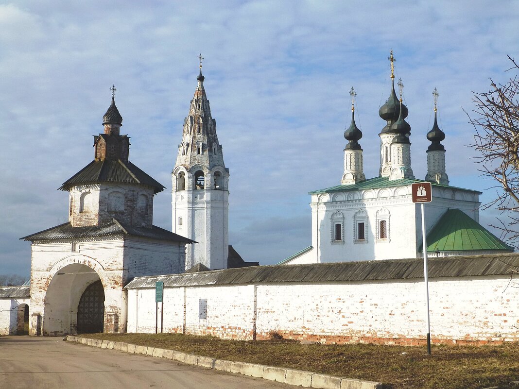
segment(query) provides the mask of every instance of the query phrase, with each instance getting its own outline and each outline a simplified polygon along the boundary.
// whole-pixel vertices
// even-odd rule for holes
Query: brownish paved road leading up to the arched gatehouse
[[[0,389],[294,388],[62,339],[0,337]]]

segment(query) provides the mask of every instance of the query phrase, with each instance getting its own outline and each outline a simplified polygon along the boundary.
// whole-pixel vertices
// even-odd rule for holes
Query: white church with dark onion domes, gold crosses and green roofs
[[[411,126],[408,109],[394,88],[391,51],[391,93],[378,110],[385,121],[380,130],[378,177],[363,172],[362,132],[355,123],[351,94],[351,124],[344,132],[344,174],[340,185],[313,190],[311,195],[311,246],[280,264],[344,262],[418,258],[422,256],[421,214],[412,202],[413,183],[432,184],[432,202],[425,205],[429,256],[510,253],[513,248],[479,224],[481,192],[449,185],[445,168],[444,132],[438,126],[438,92],[434,90],[434,124],[427,133],[427,175],[415,178],[411,167]]]

